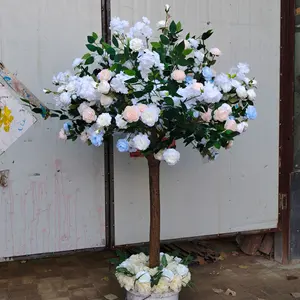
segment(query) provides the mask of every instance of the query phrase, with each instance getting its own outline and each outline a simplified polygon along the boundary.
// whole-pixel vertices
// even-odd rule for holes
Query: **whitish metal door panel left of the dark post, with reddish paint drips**
[[[100,0],[4,1],[0,60],[51,102],[42,88],[100,28]],[[103,149],[59,141],[61,125],[38,121],[0,157],[11,171],[0,193],[1,257],[105,246]]]

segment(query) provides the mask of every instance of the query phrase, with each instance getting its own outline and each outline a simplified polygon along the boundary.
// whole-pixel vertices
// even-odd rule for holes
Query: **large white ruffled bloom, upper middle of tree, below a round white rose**
[[[151,72],[151,68],[156,67],[161,73],[164,70],[164,64],[160,62],[159,54],[149,49],[146,49],[137,60],[139,62],[138,69],[141,71],[141,76],[145,81],[149,80],[148,75]]]

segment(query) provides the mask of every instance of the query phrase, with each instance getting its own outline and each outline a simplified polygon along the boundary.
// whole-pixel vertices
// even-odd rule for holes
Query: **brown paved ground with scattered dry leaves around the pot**
[[[291,293],[300,292],[297,267],[283,268],[266,259],[234,254],[222,256],[215,264],[192,267],[194,288],[183,290],[180,299],[231,299],[216,293],[228,288],[239,300],[288,300],[295,299]],[[111,252],[94,252],[1,263],[0,300],[123,300],[110,257]]]

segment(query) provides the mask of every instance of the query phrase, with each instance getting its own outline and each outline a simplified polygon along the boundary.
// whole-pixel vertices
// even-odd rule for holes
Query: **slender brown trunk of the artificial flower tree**
[[[150,191],[150,261],[149,267],[155,268],[160,264],[160,193],[159,166],[160,161],[153,155],[147,156],[149,167]]]

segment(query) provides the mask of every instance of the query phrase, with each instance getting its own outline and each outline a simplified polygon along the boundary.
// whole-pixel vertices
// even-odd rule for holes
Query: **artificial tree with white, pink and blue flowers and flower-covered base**
[[[150,255],[133,256],[116,272],[122,286],[141,294],[178,292],[190,279],[177,258],[160,256],[159,168],[162,161],[170,166],[179,161],[174,141],[213,160],[257,115],[257,82],[248,77],[248,64],[217,74],[212,66],[221,51],[205,44],[212,30],[181,37],[182,25],[171,19],[169,9],[166,5],[166,18],[157,24],[156,40],[146,17],[131,28],[113,18],[111,43],[96,33],[88,36],[89,52],[74,60],[74,72],[53,78],[56,91],[44,90],[54,95],[58,107],[45,118],[67,120],[61,139],[79,137],[99,147],[122,134],[118,150],[139,151],[148,161]]]

